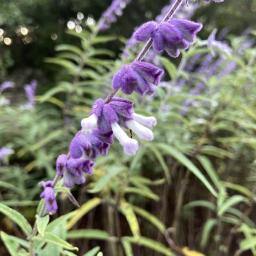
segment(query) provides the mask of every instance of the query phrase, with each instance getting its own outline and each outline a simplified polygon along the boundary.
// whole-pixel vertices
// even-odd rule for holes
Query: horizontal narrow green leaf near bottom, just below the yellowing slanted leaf
[[[103,230],[100,229],[78,229],[71,230],[68,232],[67,237],[69,239],[97,239],[97,240],[108,240],[110,235]]]

